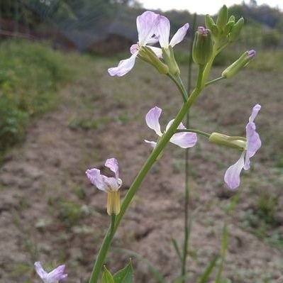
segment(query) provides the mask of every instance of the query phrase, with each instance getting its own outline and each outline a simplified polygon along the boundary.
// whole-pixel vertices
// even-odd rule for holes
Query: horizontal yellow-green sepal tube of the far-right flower
[[[223,135],[222,133],[211,133],[209,137],[211,143],[216,145],[224,145],[229,148],[236,148],[238,150],[245,150],[247,139],[243,137],[231,137],[230,135]]]

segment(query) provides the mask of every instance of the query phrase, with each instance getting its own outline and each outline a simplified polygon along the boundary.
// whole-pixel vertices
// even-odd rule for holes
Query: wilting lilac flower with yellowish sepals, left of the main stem
[[[115,174],[115,177],[106,177],[100,174],[100,170],[96,168],[87,170],[86,174],[91,184],[107,193],[107,213],[109,216],[118,215],[120,212],[120,192],[118,192],[118,189],[122,186],[122,180],[119,178],[118,161],[116,158],[110,158],[106,160],[105,166]]]

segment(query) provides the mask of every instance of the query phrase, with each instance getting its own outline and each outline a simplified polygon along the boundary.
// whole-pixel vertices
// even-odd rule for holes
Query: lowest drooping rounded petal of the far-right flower
[[[245,151],[240,155],[240,159],[231,165],[225,172],[224,181],[230,189],[235,189],[240,186],[240,172],[245,164]]]

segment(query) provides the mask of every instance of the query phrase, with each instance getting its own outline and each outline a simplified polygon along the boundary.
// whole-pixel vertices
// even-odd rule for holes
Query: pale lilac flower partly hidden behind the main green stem
[[[160,123],[159,123],[161,112],[162,109],[155,106],[152,109],[150,109],[150,111],[148,111],[148,113],[145,116],[145,121],[148,127],[151,128],[153,131],[155,131],[155,133],[157,133],[157,135],[159,135],[160,137],[163,134],[161,132]],[[174,119],[167,124],[165,132],[170,128],[173,121]],[[186,129],[186,128],[182,123],[180,123],[178,129]],[[196,144],[196,141],[197,141],[196,133],[188,133],[188,132],[175,133],[174,135],[172,135],[172,138],[170,138],[170,142],[174,143],[175,145],[178,145],[180,148],[192,148]],[[157,144],[156,142],[150,140],[145,140],[145,143],[150,143],[152,148],[155,148],[155,145]]]

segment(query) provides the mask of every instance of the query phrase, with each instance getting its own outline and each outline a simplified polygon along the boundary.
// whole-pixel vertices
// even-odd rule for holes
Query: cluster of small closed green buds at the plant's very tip
[[[226,41],[232,43],[237,40],[244,25],[243,18],[240,18],[237,22],[235,22],[235,16],[228,18],[228,9],[226,5],[220,9],[216,23],[209,15],[206,15],[205,22],[206,28],[211,30],[213,40],[221,41],[222,43],[225,43]]]

